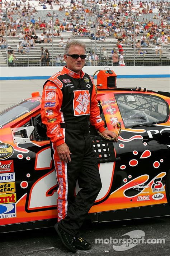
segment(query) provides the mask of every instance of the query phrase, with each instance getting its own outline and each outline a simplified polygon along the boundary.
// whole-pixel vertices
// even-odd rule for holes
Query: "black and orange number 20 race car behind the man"
[[[119,137],[113,143],[90,127],[102,188],[88,218],[170,215],[170,93],[117,88],[109,70],[97,82],[101,117]],[[0,233],[57,221],[58,185],[40,108],[33,93],[0,113]]]

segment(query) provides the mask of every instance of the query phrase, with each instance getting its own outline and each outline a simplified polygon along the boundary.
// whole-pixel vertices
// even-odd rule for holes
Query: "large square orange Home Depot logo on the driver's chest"
[[[89,90],[74,91],[74,115],[82,116],[90,114],[90,94]]]

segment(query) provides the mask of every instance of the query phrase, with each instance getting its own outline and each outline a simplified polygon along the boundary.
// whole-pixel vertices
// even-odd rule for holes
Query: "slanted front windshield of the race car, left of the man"
[[[7,123],[15,120],[25,113],[29,113],[32,109],[36,108],[40,104],[39,100],[23,100],[20,103],[13,105],[10,108],[5,109],[0,113],[0,126],[4,126]]]

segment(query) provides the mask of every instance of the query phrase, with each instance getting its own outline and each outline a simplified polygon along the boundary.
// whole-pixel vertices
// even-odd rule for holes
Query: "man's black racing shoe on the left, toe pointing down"
[[[60,226],[58,226],[58,224],[56,224],[54,227],[55,227],[55,230],[57,231],[57,234],[59,235],[62,243],[65,245],[65,247],[67,247],[67,249],[69,249],[71,252],[76,252],[77,250],[73,243],[73,236],[70,235],[69,233],[67,233],[62,228],[60,228]]]

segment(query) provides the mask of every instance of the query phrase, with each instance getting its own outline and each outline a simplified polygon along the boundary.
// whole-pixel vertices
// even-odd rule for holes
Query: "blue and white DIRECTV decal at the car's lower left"
[[[16,217],[16,204],[8,203],[0,205],[0,219]]]

